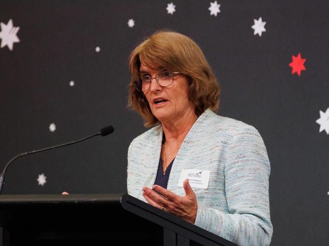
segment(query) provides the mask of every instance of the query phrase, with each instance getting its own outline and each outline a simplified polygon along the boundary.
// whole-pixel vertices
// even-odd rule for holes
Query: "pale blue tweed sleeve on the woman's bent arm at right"
[[[236,130],[224,167],[229,213],[198,203],[195,225],[238,245],[269,245],[273,233],[269,207],[270,162],[258,130]]]

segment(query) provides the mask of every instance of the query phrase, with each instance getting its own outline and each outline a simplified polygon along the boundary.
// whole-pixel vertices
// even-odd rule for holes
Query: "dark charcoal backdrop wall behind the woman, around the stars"
[[[171,15],[163,1],[2,1],[1,27],[12,19],[20,42],[0,48],[0,168],[16,154],[115,128],[104,138],[18,159],[3,193],[126,192],[128,146],[146,130],[126,107],[128,57],[145,35],[171,28],[192,37],[213,67],[222,87],[218,114],[255,126],[264,139],[271,245],[325,245],[328,3],[217,1],[214,16],[210,2],[175,1]],[[261,36],[252,29],[260,17]],[[299,53],[306,70],[292,74]],[[39,185],[42,173],[47,182]]]

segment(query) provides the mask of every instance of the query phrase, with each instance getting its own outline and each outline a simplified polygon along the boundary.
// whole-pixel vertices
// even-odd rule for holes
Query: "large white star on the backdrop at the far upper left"
[[[0,32],[0,38],[1,38],[1,48],[8,46],[9,50],[13,50],[14,43],[18,43],[20,40],[17,37],[17,32],[19,31],[19,27],[13,27],[13,20],[10,19],[8,21],[8,24],[1,22],[1,32]]]

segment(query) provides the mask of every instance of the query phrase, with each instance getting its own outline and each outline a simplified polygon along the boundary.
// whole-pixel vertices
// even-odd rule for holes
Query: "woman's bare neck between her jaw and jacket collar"
[[[197,118],[194,109],[188,109],[177,120],[162,122],[166,142],[183,142]]]

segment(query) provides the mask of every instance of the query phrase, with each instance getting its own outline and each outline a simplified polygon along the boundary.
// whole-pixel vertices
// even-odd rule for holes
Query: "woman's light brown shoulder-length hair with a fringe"
[[[152,114],[143,92],[136,90],[140,83],[141,64],[149,68],[183,73],[189,81],[189,100],[197,115],[219,107],[220,86],[200,47],[189,37],[170,30],[159,30],[142,41],[129,57],[131,74],[129,106],[144,119],[146,127],[158,122]]]

